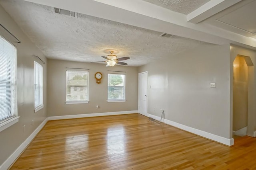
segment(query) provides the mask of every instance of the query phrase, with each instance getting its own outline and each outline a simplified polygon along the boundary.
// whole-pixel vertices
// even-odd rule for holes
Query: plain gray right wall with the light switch
[[[164,109],[168,120],[230,138],[229,45],[200,45],[138,71],[148,71],[148,113]]]

